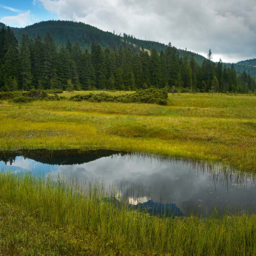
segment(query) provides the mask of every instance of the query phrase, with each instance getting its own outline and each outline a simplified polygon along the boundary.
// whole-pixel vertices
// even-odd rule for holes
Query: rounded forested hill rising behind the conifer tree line
[[[65,45],[67,39],[70,38],[72,44],[75,44],[75,42],[78,41],[83,50],[85,48],[90,49],[92,42],[100,44],[101,47],[110,47],[113,44],[118,47],[120,44],[127,44],[128,47],[135,47],[137,50],[141,48],[151,50],[152,46],[155,47],[158,53],[161,53],[161,50],[166,50],[165,44],[156,41],[141,40],[125,33],[120,36],[111,32],[99,30],[97,27],[92,27],[82,22],[74,21],[41,21],[24,28],[13,28],[13,31],[18,41],[21,41],[22,34],[27,34],[27,36],[35,39],[37,34],[39,34],[41,38],[44,38],[47,32],[49,32],[53,36],[58,48],[61,47],[61,44]],[[189,55],[192,54],[190,51],[181,49],[178,49],[178,53],[181,57],[183,57],[185,53],[189,53]],[[201,65],[205,58],[198,53],[193,54],[195,61]]]

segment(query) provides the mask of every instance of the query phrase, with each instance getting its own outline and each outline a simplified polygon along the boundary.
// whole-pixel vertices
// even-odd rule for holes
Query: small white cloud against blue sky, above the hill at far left
[[[10,27],[26,27],[38,21],[38,18],[30,13],[30,10],[24,13],[19,13],[16,16],[4,16],[0,22],[7,24]]]

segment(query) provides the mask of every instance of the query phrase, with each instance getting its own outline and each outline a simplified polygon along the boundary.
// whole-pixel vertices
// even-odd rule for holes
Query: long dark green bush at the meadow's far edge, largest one
[[[119,96],[108,95],[107,93],[75,95],[70,98],[72,101],[91,101],[91,102],[122,102],[122,103],[148,103],[148,104],[167,104],[168,93],[166,90],[146,89],[138,90],[132,94]]]

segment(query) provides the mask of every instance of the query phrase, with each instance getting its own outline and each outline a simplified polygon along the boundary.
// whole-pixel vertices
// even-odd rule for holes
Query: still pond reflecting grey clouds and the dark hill
[[[98,181],[118,188],[117,200],[143,206],[148,212],[188,216],[221,214],[229,211],[255,212],[256,175],[238,172],[221,164],[157,158],[137,153],[95,150],[21,150],[0,152],[4,172],[31,171],[34,175],[75,178],[87,186]]]

